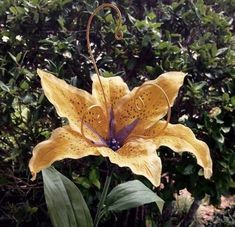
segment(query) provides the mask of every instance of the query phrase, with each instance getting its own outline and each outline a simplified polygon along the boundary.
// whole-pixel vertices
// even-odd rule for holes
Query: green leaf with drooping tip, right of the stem
[[[138,180],[119,184],[108,194],[105,209],[122,211],[156,202],[162,212],[164,201],[152,190]]]

